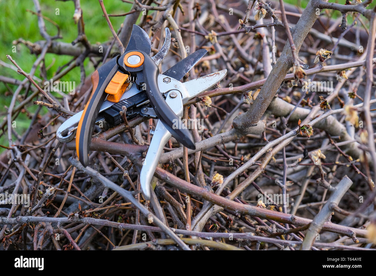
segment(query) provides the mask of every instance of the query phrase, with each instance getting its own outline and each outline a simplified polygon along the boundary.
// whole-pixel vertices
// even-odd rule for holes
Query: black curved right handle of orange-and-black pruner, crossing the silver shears
[[[186,128],[173,128],[174,121],[180,121],[177,115],[168,106],[158,87],[158,66],[152,58],[144,55],[144,81],[146,83],[146,94],[152,103],[158,119],[162,121],[168,131],[175,137],[177,141],[190,149],[196,149],[191,132]],[[181,124],[179,124],[181,125]]]

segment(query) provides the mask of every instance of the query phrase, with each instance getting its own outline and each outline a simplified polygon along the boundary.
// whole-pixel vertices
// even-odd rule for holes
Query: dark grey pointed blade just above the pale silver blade
[[[205,56],[206,53],[208,53],[208,51],[200,49],[190,54],[185,59],[180,60],[170,69],[165,71],[163,75],[167,75],[175,80],[181,80],[185,74],[188,73],[203,56]]]

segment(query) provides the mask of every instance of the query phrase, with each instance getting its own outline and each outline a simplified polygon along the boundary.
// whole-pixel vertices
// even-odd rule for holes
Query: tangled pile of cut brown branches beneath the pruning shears
[[[42,40],[15,43],[37,58],[21,68],[8,55],[2,65],[19,78],[0,76],[12,98],[0,130],[8,142],[0,156],[3,249],[375,249],[372,1],[310,0],[303,9],[282,0],[119,0],[119,14],[107,14],[99,0],[113,35],[101,44],[85,35],[79,0],[65,3],[75,5],[73,42],[60,39],[56,23],[50,35],[53,21],[33,2]],[[123,2],[132,8],[121,14]],[[112,26],[114,16],[124,17],[122,26]],[[227,69],[184,107],[185,119],[200,122],[191,129],[196,150],[171,137],[150,200],[139,172],[158,120],[96,126],[87,167],[74,140],[56,139],[91,94],[84,62],[99,68],[122,53],[136,22],[151,56],[170,29],[161,72],[202,48],[208,54],[183,81]],[[47,74],[45,57],[61,54],[71,61]],[[76,67],[74,91],[46,89]],[[20,114],[30,119],[23,133]]]

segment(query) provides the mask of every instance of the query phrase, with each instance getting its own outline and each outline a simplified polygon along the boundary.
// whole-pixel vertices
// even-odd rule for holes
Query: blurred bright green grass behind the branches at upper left
[[[42,15],[55,21],[60,27],[60,34],[62,39],[57,41],[63,41],[70,43],[77,37],[77,25],[73,21],[74,3],[73,1],[55,1],[55,0],[39,0],[41,5]],[[105,8],[108,14],[121,14],[128,12],[132,4],[124,3],[120,0],[105,0]],[[102,16],[103,12],[97,0],[81,0],[81,8],[83,11],[83,19],[85,22],[85,33],[88,41],[91,44],[96,42],[103,43],[112,39],[111,31],[107,25],[105,18]],[[58,9],[58,10],[56,10]],[[11,64],[6,58],[9,54],[17,62],[17,64],[25,71],[29,72],[33,63],[36,60],[36,56],[30,54],[29,48],[23,44],[16,46],[16,53],[12,52],[13,41],[22,38],[26,41],[39,41],[43,40],[39,33],[38,17],[33,15],[27,10],[34,11],[35,7],[32,0],[0,0],[0,10],[3,15],[0,17],[0,60]],[[56,15],[58,11],[59,15]],[[124,21],[124,17],[111,17],[112,26],[115,30],[118,30],[121,23]],[[56,27],[45,20],[45,26],[50,36],[55,36],[57,33]],[[52,77],[59,66],[64,65],[72,59],[71,56],[62,56],[48,53],[45,56],[45,66],[49,68],[47,71],[47,77]],[[90,75],[94,71],[94,67],[88,59],[84,62],[86,76]],[[24,77],[17,72],[5,68],[0,65],[0,75],[23,80]],[[39,68],[36,70],[36,76],[39,76]],[[80,83],[80,70],[74,68],[67,75],[61,78],[61,81],[76,81],[76,87]],[[9,85],[11,92],[17,89],[17,86]],[[6,93],[9,89],[4,83],[0,82],[0,120],[6,116],[5,106],[9,106],[12,94]],[[21,94],[23,94],[21,92]],[[5,96],[7,94],[7,96]],[[18,102],[16,102],[16,106]],[[33,112],[37,106],[28,108]],[[47,112],[46,108],[42,108],[40,114]],[[23,131],[29,127],[30,120],[24,113],[21,113],[17,117],[17,132],[22,134]],[[2,131],[0,131],[2,132]],[[8,141],[5,139],[6,135],[0,138],[0,145],[8,146]],[[0,152],[3,148],[0,148]]]

